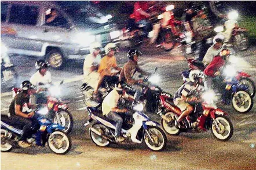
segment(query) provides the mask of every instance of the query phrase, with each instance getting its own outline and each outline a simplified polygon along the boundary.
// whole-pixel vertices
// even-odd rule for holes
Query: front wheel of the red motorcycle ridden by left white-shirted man
[[[67,111],[65,109],[60,109],[57,114],[60,118],[61,126],[65,127],[65,129],[63,131],[65,133],[70,133],[71,130],[73,129],[73,125],[74,125],[73,116],[71,115],[70,111]],[[54,116],[53,121],[56,123],[58,122],[57,115]]]

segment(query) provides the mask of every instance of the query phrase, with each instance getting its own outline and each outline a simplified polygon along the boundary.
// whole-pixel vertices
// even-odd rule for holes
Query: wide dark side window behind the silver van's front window
[[[26,5],[12,5],[12,8],[10,10],[10,23],[36,25],[37,18],[38,7]]]

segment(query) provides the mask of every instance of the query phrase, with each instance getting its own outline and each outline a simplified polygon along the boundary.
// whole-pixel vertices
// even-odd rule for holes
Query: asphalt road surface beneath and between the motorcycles
[[[185,58],[178,49],[163,52],[153,46],[142,47],[144,55],[139,58],[142,69],[151,71],[158,67],[159,85],[174,94],[182,84],[181,71],[188,69]],[[237,68],[252,75],[256,81],[256,48],[251,47],[240,56]],[[29,80],[36,71],[36,58],[13,56],[20,81]],[[120,66],[127,62],[126,51],[116,54]],[[83,127],[88,116],[82,93],[83,61],[69,61],[63,70],[50,70],[53,81],[64,80],[63,96],[74,116],[71,132],[72,149],[59,156],[49,148],[13,149],[1,153],[1,169],[255,169],[256,167],[256,107],[245,115],[236,113],[231,106],[222,107],[228,112],[235,131],[227,142],[221,142],[206,133],[181,133],[167,135],[167,147],[163,152],[152,152],[144,145],[111,145],[100,148],[92,142],[89,130]],[[1,93],[1,114],[8,112],[12,100],[10,93]],[[255,98],[254,98],[255,100]],[[148,114],[159,122],[159,117]]]

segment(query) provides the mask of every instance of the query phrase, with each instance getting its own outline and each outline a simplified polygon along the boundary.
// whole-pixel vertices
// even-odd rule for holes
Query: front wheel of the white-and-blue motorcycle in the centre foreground
[[[167,138],[162,129],[159,127],[151,126],[148,127],[147,130],[149,134],[145,132],[143,138],[145,145],[147,145],[149,149],[153,151],[160,151],[166,148]]]

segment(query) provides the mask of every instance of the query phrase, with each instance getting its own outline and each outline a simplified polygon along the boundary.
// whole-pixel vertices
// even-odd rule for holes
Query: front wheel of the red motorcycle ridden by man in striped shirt
[[[213,121],[211,122],[211,133],[220,141],[228,141],[228,139],[232,137],[234,131],[231,120],[225,115],[216,116],[215,120],[217,124]]]

